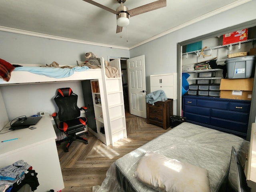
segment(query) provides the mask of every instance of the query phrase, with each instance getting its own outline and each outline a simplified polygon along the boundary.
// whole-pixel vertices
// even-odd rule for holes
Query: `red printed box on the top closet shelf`
[[[247,40],[248,28],[223,35],[223,45]]]

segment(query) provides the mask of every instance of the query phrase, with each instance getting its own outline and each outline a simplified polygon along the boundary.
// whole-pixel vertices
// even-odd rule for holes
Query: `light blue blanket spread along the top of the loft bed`
[[[85,71],[90,69],[87,66],[76,66],[73,68],[54,68],[54,67],[16,67],[14,71],[28,71],[38,75],[45,75],[53,78],[64,78],[74,74],[75,71]]]

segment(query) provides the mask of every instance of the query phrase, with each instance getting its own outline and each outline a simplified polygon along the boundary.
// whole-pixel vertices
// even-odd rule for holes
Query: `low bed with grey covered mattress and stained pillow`
[[[116,160],[93,192],[223,192],[232,146],[245,166],[248,141],[183,122]]]

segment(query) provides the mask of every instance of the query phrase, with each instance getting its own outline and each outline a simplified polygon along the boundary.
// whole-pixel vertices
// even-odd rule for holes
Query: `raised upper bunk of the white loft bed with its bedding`
[[[10,77],[8,81],[0,78],[0,85],[102,79],[103,75],[106,76],[107,74],[108,70],[106,70],[106,67],[112,67],[105,66],[103,69],[103,58],[101,58],[101,66],[98,66],[98,68],[89,68],[88,66],[71,66],[71,68],[53,68],[41,67],[40,65],[33,64],[20,65],[21,67],[16,67],[9,72],[8,75]],[[2,68],[0,68],[0,74],[3,74],[4,72],[1,71],[1,69]],[[106,76],[105,78],[108,78],[108,76]]]

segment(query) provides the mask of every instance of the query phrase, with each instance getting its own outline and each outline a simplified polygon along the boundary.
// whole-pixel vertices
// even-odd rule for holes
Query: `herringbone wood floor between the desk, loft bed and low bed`
[[[69,152],[64,152],[65,142],[57,146],[65,186],[62,192],[92,192],[92,186],[101,185],[115,160],[171,129],[147,124],[146,119],[133,115],[126,116],[126,128],[127,138],[114,146],[106,146],[91,133],[89,144],[76,140]]]

